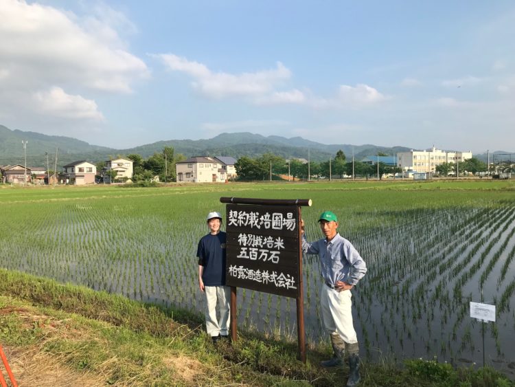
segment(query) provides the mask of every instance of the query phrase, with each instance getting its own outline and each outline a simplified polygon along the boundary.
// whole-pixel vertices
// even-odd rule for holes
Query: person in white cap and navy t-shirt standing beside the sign
[[[229,300],[231,288],[225,286],[225,243],[226,234],[220,231],[222,215],[219,212],[207,214],[209,234],[198,242],[198,285],[205,294],[205,327],[213,342],[229,338]],[[216,318],[216,305],[220,318]]]

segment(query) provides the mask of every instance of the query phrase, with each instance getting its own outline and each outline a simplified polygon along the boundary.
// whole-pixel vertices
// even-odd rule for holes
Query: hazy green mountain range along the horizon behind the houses
[[[91,145],[72,137],[44,135],[32,131],[11,130],[0,125],[0,165],[21,164],[25,162],[22,141],[27,141],[27,166],[46,166],[47,157],[50,164],[54,164],[56,157],[58,166],[78,160],[100,162],[113,157],[126,156],[137,153],[146,158],[156,152],[162,152],[165,146],[173,146],[175,153],[182,153],[186,157],[211,155],[231,156],[236,159],[245,155],[258,157],[270,152],[284,158],[299,157],[321,162],[334,157],[336,152],[342,150],[351,159],[354,154],[356,160],[378,152],[386,155],[395,155],[398,152],[410,151],[407,146],[376,146],[372,144],[321,144],[305,140],[302,137],[286,138],[278,135],[265,137],[255,133],[222,133],[209,140],[166,140],[145,144],[128,149],[115,149],[106,146]],[[510,153],[499,151],[498,153]],[[486,154],[474,155],[486,161]]]

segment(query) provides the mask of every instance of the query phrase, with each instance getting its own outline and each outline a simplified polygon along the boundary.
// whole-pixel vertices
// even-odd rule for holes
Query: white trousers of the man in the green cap
[[[322,321],[328,334],[338,333],[347,344],[358,342],[352,324],[352,294],[350,290],[337,291],[322,284],[320,289],[320,306]]]

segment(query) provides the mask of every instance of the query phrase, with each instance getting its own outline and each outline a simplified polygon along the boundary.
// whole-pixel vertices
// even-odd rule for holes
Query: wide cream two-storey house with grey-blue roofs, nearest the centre
[[[196,156],[175,164],[177,181],[190,183],[224,182],[236,177],[232,157]]]

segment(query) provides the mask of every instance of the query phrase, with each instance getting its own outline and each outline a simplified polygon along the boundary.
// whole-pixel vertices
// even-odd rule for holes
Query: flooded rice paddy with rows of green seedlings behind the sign
[[[0,266],[62,283],[201,313],[196,246],[220,197],[312,199],[368,273],[353,291],[355,327],[369,360],[437,357],[482,364],[481,322],[470,301],[496,306],[485,324],[486,362],[515,375],[515,182],[368,181],[197,184],[160,188],[0,186]],[[307,341],[328,342],[317,256],[304,256]],[[238,324],[297,338],[295,299],[238,289]]]

